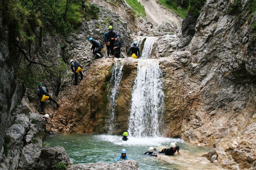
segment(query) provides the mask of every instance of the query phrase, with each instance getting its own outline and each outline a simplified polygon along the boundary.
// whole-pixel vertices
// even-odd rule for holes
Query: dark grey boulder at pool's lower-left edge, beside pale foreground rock
[[[72,160],[68,157],[68,154],[62,146],[56,146],[54,148],[45,146],[41,150],[40,158],[36,166],[36,169],[54,169],[54,167],[59,162],[63,162],[66,166],[72,164]]]

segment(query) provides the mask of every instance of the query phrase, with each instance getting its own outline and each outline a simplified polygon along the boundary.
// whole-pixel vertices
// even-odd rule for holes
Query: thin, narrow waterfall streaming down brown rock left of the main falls
[[[114,66],[112,68],[111,78],[110,78],[110,85],[108,90],[108,120],[106,123],[106,129],[108,130],[108,133],[111,134],[114,129],[114,122],[116,119],[116,101],[117,101],[117,95],[119,92],[119,86],[122,79],[122,70],[123,70],[124,64],[123,63],[114,63]]]

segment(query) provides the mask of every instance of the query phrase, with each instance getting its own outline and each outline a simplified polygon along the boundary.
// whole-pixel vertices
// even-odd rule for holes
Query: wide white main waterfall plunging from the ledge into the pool
[[[132,89],[128,133],[136,137],[159,136],[164,113],[162,71],[158,62],[142,60]]]

